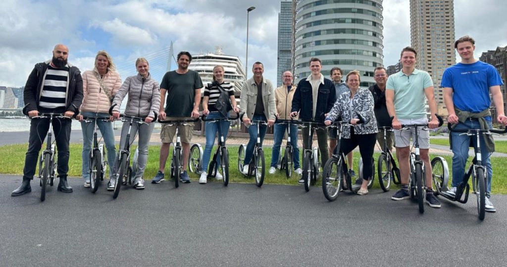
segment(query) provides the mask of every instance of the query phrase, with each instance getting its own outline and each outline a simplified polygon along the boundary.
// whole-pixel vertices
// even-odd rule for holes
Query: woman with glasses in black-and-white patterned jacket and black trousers
[[[359,88],[360,82],[359,71],[353,70],[347,74],[346,83],[350,90],[336,100],[324,123],[329,126],[340,116],[342,121],[349,122],[350,127],[344,127],[341,133],[344,140],[341,142],[340,150],[347,155],[359,146],[363,162],[372,162],[373,149],[377,141],[377,121],[373,112],[372,93],[367,88]],[[359,123],[359,118],[364,121]],[[358,195],[368,194],[368,180],[373,173],[372,164],[364,164],[363,173],[363,184],[357,191]]]

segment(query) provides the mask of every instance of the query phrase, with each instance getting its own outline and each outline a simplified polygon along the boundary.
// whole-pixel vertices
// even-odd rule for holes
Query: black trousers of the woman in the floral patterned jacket
[[[377,142],[377,133],[369,133],[367,135],[356,135],[351,132],[350,139],[342,139],[340,150],[347,155],[350,151],[359,146],[359,152],[363,158],[363,179],[370,180],[373,174],[373,150]],[[352,166],[348,166],[351,168]]]

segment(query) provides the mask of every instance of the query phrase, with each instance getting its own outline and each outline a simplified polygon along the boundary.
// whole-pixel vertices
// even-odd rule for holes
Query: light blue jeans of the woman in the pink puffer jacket
[[[96,113],[90,111],[84,111],[81,115],[85,117],[94,117],[99,116],[101,118],[107,119],[109,118],[109,114],[107,113]],[[81,130],[83,131],[83,152],[81,157],[83,158],[83,169],[82,175],[83,179],[90,180],[90,150],[93,146],[93,127],[95,123],[93,122],[81,122]],[[105,143],[105,149],[107,151],[107,162],[109,163],[109,175],[113,175],[113,165],[116,157],[116,147],[115,147],[115,132],[113,130],[113,122],[97,120],[97,126],[102,134],[102,139]],[[97,131],[98,133],[98,131]],[[97,134],[97,141],[100,140],[99,135]]]

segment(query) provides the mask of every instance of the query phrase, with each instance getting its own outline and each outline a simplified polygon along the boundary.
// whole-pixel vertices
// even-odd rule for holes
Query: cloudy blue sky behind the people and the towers
[[[456,36],[476,39],[476,56],[507,45],[505,0],[455,0]],[[4,0],[0,5],[0,85],[22,86],[35,63],[51,58],[56,43],[68,45],[69,62],[93,68],[98,50],[113,55],[123,77],[135,74],[134,61],[147,57],[154,77],[162,76],[167,48],[223,52],[244,62],[246,9],[250,12],[248,64],[261,61],[276,80],[277,0]],[[384,65],[397,62],[410,45],[409,0],[384,0]],[[173,64],[174,68],[174,64]]]

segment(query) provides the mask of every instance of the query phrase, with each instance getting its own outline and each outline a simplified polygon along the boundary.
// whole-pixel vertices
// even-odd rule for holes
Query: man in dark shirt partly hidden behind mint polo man
[[[376,67],[375,68],[375,76],[374,76],[376,84],[373,84],[368,89],[372,92],[373,102],[375,103],[374,112],[375,118],[377,119],[378,127],[390,127],[391,119],[389,117],[389,113],[387,112],[387,106],[385,104],[385,84],[387,82],[387,72],[384,67]],[[389,151],[392,150],[392,143],[394,141],[394,135],[392,131],[387,132],[387,148]],[[377,141],[380,144],[380,147],[384,148],[384,131],[379,129],[377,133]]]

